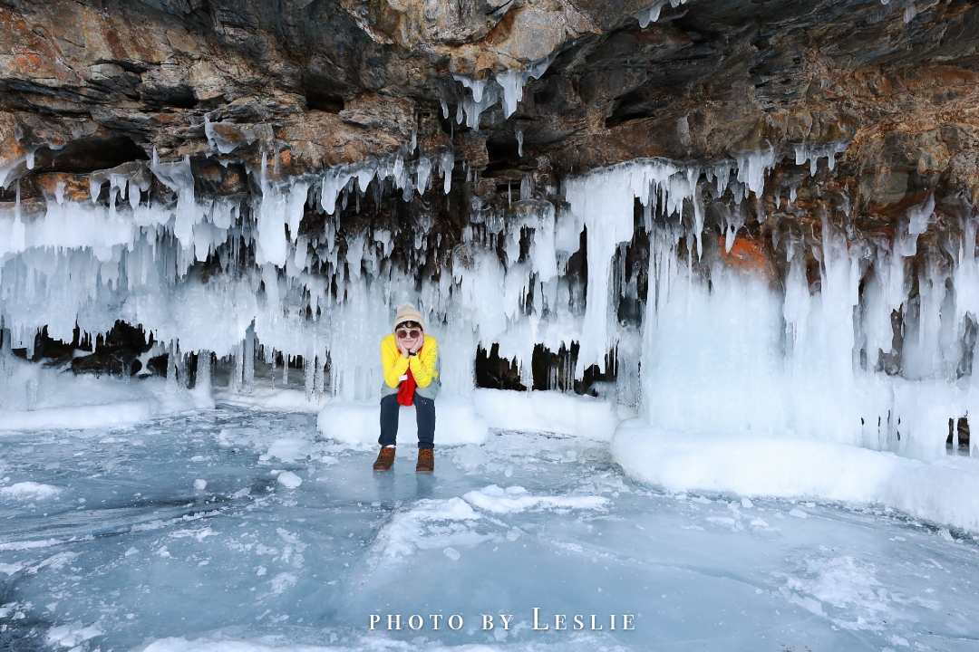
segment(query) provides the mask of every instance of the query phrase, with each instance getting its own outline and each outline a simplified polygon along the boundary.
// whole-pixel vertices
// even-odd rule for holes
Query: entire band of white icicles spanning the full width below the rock
[[[801,146],[796,161],[818,155],[831,162],[840,150]],[[913,296],[905,263],[932,220],[928,202],[909,211],[889,243],[850,242],[826,223],[815,251],[816,293],[801,244],[789,241],[790,271],[773,289],[705,252],[701,191],[735,200],[760,195],[777,158],[751,152],[707,169],[631,161],[567,180],[570,209],[559,211],[522,184],[505,214],[473,206],[443,273],[420,285],[413,270],[392,261],[396,234],[349,233],[337,203],[384,179],[402,192],[424,193],[441,174],[447,190],[446,157],[371,162],[276,183],[259,172],[261,196],[248,207],[195,197],[186,160],[154,159],[149,172],[174,191],[175,205],[141,201],[137,191],[147,177],[137,172],[93,178],[92,196],[101,180],[111,185],[108,206],[52,201],[29,221],[16,205],[0,209],[0,314],[11,335],[5,341],[29,349],[43,326],[70,340],[76,325],[100,333],[122,320],[169,343],[174,373],[181,352],[232,356],[232,385],[245,390],[260,350],[267,362],[277,353],[302,356],[310,394],[370,399],[381,383],[377,343],[390,331],[394,306],[413,300],[440,340],[450,393],[472,390],[477,346],[498,344],[499,355],[515,358],[529,380],[535,344],[557,351],[578,342],[574,374],[604,367],[614,350],[616,396],[638,401],[659,427],[788,431],[922,458],[943,454],[948,419],[979,410],[969,382],[979,314],[975,222],[962,225],[946,252],[954,265],[937,254],[928,259]],[[637,292],[617,269],[634,237],[636,199],[645,206],[651,252],[641,332],[616,319],[618,298]],[[320,233],[300,235],[306,206],[330,216]],[[404,226],[418,265],[437,245],[429,238],[434,224],[423,212]],[[725,225],[728,247],[740,226]],[[568,275],[584,229],[586,289]],[[242,248],[250,245],[256,264],[243,267]],[[195,263],[209,256],[222,271],[206,280]],[[710,284],[693,261],[710,266]],[[897,374],[885,364],[895,354],[895,311],[904,315]]]

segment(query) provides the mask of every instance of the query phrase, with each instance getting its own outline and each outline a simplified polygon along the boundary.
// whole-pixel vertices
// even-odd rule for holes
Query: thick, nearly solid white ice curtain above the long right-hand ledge
[[[933,208],[929,199],[910,210],[892,242],[848,242],[824,221],[816,292],[799,242],[789,242],[783,287],[715,261],[708,288],[680,262],[684,234],[654,229],[645,417],[667,430],[788,433],[945,456],[950,419],[979,413],[971,383],[979,268],[969,220],[947,250],[923,252],[917,279],[908,278]],[[899,353],[900,369],[888,361]]]

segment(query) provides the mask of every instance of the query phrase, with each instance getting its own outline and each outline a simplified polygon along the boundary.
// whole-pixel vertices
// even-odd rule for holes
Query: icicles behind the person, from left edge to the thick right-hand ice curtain
[[[706,174],[717,177],[722,192],[728,184],[739,186],[739,194],[761,192],[767,161],[773,155],[746,155]],[[117,320],[145,327],[184,354],[247,358],[247,343],[257,339],[269,361],[276,352],[309,361],[309,392],[353,399],[377,393],[376,340],[390,328],[392,306],[412,299],[431,315],[433,334],[442,340],[446,385],[459,391],[473,385],[477,345],[489,348],[494,342],[525,374],[535,343],[557,351],[582,342],[580,376],[592,364],[604,366],[618,339],[609,270],[619,244],[632,237],[633,197],[650,206],[651,198],[661,197],[662,210],[676,214],[695,195],[703,174],[652,160],[599,171],[567,183],[571,211],[560,213],[549,202],[531,199],[529,184],[522,184],[522,198],[507,216],[476,207],[449,262],[451,274],[422,283],[420,295],[413,271],[391,263],[395,234],[348,234],[341,255],[338,200],[358,201],[385,179],[403,196],[424,193],[437,175],[447,192],[451,168],[450,156],[396,158],[273,182],[263,165],[257,174],[261,196],[248,207],[235,198],[195,197],[187,159],[163,162],[155,156],[148,169],[128,175],[94,174],[91,196],[109,183],[107,206],[53,201],[43,217],[29,222],[19,205],[0,210],[3,324],[14,346],[28,353],[44,326],[51,337],[70,340],[75,326],[100,333]],[[151,173],[177,196],[174,205],[141,201]],[[333,216],[322,233],[300,235],[307,205]],[[433,223],[423,217],[411,227],[418,265],[426,261]],[[699,233],[699,208],[696,224]],[[585,227],[587,302],[576,298],[581,290],[565,277]],[[523,261],[522,232],[533,235],[531,255]],[[500,241],[504,260],[497,255]],[[256,264],[242,268],[238,261],[250,245]],[[195,264],[210,256],[222,272],[204,280]],[[322,384],[327,360],[329,387]],[[240,366],[246,385],[250,369]]]

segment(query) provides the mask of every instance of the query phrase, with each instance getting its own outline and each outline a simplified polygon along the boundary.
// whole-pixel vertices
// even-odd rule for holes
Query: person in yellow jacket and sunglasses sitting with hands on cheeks
[[[381,340],[381,452],[375,471],[390,471],[395,463],[397,416],[401,406],[415,406],[418,422],[418,463],[416,473],[435,470],[435,398],[439,393],[439,372],[435,370],[439,345],[425,334],[425,318],[410,303],[397,307],[395,332]]]

